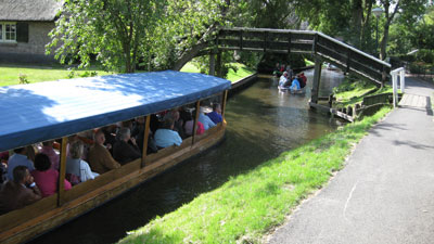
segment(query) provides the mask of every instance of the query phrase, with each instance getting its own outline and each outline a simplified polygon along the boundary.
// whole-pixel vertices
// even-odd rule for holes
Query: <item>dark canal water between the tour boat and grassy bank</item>
[[[305,75],[305,94],[280,93],[277,80],[258,79],[228,101],[228,127],[220,144],[31,243],[114,243],[230,177],[333,131],[334,119],[309,111],[312,72]],[[342,79],[339,73],[323,70],[320,93],[328,95]]]

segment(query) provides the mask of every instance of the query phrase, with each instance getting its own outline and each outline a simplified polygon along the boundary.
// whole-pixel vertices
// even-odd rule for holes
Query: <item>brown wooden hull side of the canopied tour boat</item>
[[[164,149],[141,160],[131,162],[94,180],[80,183],[61,197],[55,194],[23,209],[0,216],[0,243],[22,243],[76,218],[118,196],[139,183],[215,145],[225,137],[226,123],[204,134],[186,139],[180,146]],[[59,206],[58,201],[63,203]]]

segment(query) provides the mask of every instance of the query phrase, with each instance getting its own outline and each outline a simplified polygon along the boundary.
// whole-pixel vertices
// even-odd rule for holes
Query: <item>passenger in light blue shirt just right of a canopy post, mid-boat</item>
[[[182,139],[177,131],[174,130],[174,119],[166,118],[159,129],[155,131],[155,144],[159,147],[168,147],[171,145],[181,145]]]

